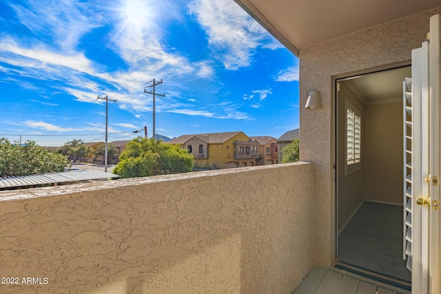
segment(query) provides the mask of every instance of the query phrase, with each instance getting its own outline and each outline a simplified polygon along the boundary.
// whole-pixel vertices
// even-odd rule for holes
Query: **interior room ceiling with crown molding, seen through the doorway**
[[[347,78],[345,83],[364,105],[402,101],[402,82],[411,78],[411,67]]]

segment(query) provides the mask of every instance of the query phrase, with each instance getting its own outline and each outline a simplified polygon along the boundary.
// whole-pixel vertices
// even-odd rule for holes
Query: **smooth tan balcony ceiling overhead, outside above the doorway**
[[[441,0],[235,0],[295,54],[380,23],[441,6]]]

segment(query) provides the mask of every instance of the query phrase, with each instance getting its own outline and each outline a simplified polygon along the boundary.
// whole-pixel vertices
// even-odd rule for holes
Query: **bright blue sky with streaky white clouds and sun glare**
[[[233,0],[0,2],[0,138],[63,145],[298,128],[298,59]],[[147,89],[150,90],[150,89]]]

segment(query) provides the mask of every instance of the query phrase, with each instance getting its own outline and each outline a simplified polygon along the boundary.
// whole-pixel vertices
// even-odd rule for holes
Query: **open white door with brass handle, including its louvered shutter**
[[[429,36],[412,50],[412,78],[403,85],[403,258],[415,294],[441,294],[440,15],[431,17]]]

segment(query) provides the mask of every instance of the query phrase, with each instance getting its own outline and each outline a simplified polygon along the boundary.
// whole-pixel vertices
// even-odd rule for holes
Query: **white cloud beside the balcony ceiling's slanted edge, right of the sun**
[[[260,45],[275,48],[272,36],[242,8],[231,0],[194,0],[190,13],[205,28],[212,46],[226,69],[237,70],[252,63],[252,56]]]

